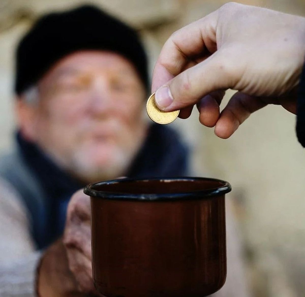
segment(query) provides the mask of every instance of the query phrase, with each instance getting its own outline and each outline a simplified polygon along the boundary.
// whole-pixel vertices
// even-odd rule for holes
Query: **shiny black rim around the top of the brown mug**
[[[141,181],[212,181],[221,182],[222,185],[210,189],[200,191],[180,192],[180,193],[122,193],[122,192],[107,192],[93,189],[96,186],[112,185],[121,182],[141,182]],[[172,201],[184,199],[205,199],[213,196],[220,196],[231,192],[231,185],[221,179],[213,179],[206,177],[153,177],[153,178],[123,178],[112,179],[108,181],[91,183],[84,187],[84,193],[91,197],[102,198],[107,200],[139,200],[139,201]]]

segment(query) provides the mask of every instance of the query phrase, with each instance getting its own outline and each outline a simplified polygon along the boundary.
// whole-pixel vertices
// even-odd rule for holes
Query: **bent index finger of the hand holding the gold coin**
[[[180,30],[165,42],[152,74],[152,93],[183,71],[190,60],[213,53],[216,46],[217,11]]]

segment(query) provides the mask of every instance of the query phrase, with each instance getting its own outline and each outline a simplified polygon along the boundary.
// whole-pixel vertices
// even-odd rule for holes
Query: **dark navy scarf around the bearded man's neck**
[[[46,242],[39,244],[39,248],[43,248],[62,234],[70,197],[85,185],[59,168],[39,147],[24,140],[19,133],[17,143],[25,163],[34,172],[48,200],[46,232],[49,235]],[[146,140],[126,176],[185,176],[187,155],[185,145],[174,130],[161,125],[151,125]]]

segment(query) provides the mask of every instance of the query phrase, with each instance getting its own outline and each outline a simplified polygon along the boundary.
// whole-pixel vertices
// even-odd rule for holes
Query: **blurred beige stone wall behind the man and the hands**
[[[304,0],[244,0],[305,16]],[[84,1],[0,1],[0,150],[12,146],[14,131],[14,49],[20,36],[41,13]],[[91,1],[136,27],[147,48],[151,69],[163,43],[180,27],[225,3],[221,0]],[[84,24],[85,26],[86,24]],[[107,28],[97,28],[102,34]],[[304,41],[305,42],[305,41]],[[232,96],[227,91],[224,104]],[[297,142],[295,115],[268,106],[239,127],[228,140],[191,118],[176,120],[192,149],[196,175],[228,180],[243,241],[246,279],[254,297],[305,296],[305,150]],[[236,296],[242,297],[242,296]]]

